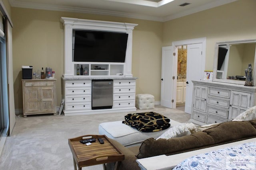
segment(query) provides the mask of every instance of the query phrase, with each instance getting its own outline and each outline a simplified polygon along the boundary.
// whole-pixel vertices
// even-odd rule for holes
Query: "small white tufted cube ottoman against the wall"
[[[151,94],[136,94],[135,107],[138,109],[154,109],[155,97]]]

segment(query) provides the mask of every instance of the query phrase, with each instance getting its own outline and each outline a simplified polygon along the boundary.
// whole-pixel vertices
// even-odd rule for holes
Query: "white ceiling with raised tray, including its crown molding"
[[[9,0],[12,7],[168,21],[236,0]],[[187,6],[179,6],[190,3]]]

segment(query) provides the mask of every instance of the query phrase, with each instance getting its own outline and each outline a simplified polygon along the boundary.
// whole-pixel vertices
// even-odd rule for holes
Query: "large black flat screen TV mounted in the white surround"
[[[73,61],[124,63],[127,39],[127,33],[75,30]]]

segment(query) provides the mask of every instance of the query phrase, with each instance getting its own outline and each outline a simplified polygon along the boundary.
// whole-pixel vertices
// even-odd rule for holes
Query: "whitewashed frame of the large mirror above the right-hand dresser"
[[[213,82],[223,82],[223,83],[232,83],[232,84],[243,84],[245,81],[242,80],[232,80],[232,79],[220,79],[216,78],[217,76],[217,68],[218,68],[218,48],[219,45],[226,45],[226,44],[242,44],[242,43],[256,43],[256,39],[248,39],[248,40],[238,40],[238,41],[225,41],[225,42],[218,42],[215,45],[215,52],[214,52],[214,65],[213,65],[213,77],[212,81]],[[252,68],[252,77],[253,77],[253,85],[255,86],[256,84],[256,49],[255,49],[255,54],[254,54],[254,68]],[[246,69],[246,68],[244,68]]]

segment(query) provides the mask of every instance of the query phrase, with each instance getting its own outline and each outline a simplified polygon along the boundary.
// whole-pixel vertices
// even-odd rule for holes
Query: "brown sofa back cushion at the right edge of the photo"
[[[250,121],[230,121],[204,130],[215,144],[256,136],[256,129]]]

